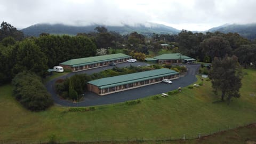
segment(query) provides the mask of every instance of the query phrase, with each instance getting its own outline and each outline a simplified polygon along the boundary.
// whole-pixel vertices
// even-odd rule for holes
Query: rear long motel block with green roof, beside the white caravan
[[[126,62],[126,60],[131,59],[131,56],[116,53],[116,54],[108,54],[108,55],[100,55],[96,57],[87,57],[87,58],[79,58],[79,59],[71,59],[65,62],[60,63],[59,66],[64,69],[69,69],[73,72],[82,71],[86,69],[98,68],[103,66],[108,66],[110,63],[121,63]]]

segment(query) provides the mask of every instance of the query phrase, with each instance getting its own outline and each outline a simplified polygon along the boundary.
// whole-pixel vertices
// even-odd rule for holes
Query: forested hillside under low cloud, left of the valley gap
[[[49,34],[57,34],[57,35],[76,35],[77,33],[90,33],[94,31],[95,27],[99,27],[101,25],[90,25],[90,26],[68,26],[62,24],[37,24],[21,31],[26,36],[39,36],[41,33],[49,33]],[[160,25],[157,23],[148,23],[148,26],[145,25],[137,25],[137,26],[104,26],[109,31],[116,31],[121,35],[127,35],[132,33],[133,31],[137,31],[143,35],[151,35],[152,33],[156,34],[178,34],[180,30],[168,27],[165,25]]]

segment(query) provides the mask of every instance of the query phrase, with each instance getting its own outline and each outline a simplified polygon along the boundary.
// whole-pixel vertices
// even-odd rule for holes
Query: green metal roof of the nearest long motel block
[[[94,81],[90,81],[88,83],[92,85],[96,85],[100,89],[105,89],[107,87],[124,85],[124,84],[139,82],[139,81],[146,81],[148,79],[169,76],[174,74],[179,74],[179,73],[175,70],[162,68],[162,69],[143,71],[139,73],[127,74],[127,75],[100,78]]]

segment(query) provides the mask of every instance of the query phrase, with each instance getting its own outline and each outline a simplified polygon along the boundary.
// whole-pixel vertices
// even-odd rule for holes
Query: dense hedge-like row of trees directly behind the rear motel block
[[[97,50],[95,43],[87,36],[44,34],[34,38],[34,41],[46,55],[49,68],[69,59],[94,56]]]

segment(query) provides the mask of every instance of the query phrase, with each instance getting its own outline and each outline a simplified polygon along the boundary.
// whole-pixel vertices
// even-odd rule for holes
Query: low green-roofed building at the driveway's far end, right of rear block
[[[193,58],[187,57],[180,53],[166,53],[158,55],[154,58],[147,58],[146,61],[155,62],[155,63],[193,63],[196,61]]]

